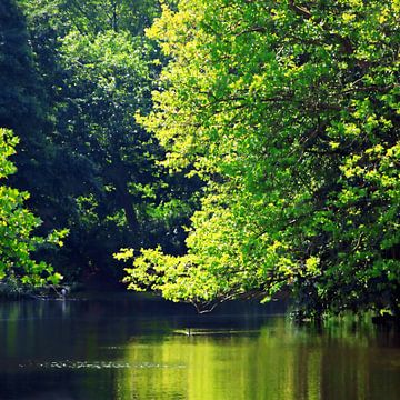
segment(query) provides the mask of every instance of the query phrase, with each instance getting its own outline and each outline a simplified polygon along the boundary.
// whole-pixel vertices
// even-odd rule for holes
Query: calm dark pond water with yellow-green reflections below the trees
[[[400,399],[393,329],[299,328],[282,311],[234,303],[198,316],[110,293],[0,303],[0,399]]]

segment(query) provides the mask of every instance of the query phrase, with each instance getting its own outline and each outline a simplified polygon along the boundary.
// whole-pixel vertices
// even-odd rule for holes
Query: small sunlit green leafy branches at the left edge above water
[[[29,286],[58,283],[62,276],[46,262],[34,260],[32,253],[43,246],[62,246],[67,231],[53,231],[47,238],[34,236],[40,220],[23,207],[29,193],[4,184],[16,172],[9,157],[16,153],[17,143],[11,131],[0,129],[0,282],[12,279]]]

